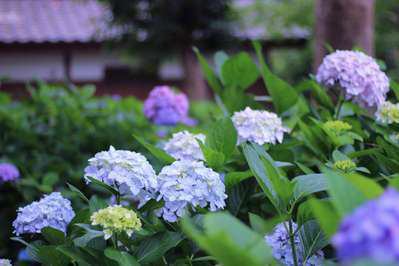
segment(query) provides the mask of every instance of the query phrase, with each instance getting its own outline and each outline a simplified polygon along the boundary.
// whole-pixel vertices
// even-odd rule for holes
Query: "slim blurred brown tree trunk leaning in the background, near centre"
[[[208,88],[202,76],[201,66],[198,63],[191,46],[186,47],[182,54],[184,68],[184,87],[192,100],[208,98]]]

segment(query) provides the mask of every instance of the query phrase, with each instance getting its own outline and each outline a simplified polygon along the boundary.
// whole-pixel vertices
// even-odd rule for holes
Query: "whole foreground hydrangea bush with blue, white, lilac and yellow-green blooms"
[[[46,265],[399,264],[399,86],[353,51],[292,86],[254,48],[219,69],[196,51],[212,121],[184,126],[187,98],[156,87],[144,113],[165,136],[93,153],[84,189],[21,207],[13,240]]]

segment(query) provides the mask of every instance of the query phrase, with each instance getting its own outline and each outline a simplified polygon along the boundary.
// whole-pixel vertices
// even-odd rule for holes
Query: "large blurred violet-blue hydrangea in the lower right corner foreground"
[[[399,264],[398,202],[399,193],[390,188],[345,217],[332,239],[338,258]]]

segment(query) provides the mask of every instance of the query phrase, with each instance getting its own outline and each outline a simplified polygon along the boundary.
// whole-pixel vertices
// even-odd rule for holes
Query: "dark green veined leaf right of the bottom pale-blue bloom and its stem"
[[[315,220],[304,223],[299,229],[299,237],[304,251],[304,263],[317,251],[328,245],[328,238]]]

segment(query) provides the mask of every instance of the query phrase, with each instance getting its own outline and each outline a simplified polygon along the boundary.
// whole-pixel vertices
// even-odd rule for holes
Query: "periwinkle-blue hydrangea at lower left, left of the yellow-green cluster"
[[[35,234],[40,233],[45,227],[52,227],[65,233],[74,216],[71,202],[63,198],[61,193],[53,192],[39,201],[18,209],[17,219],[13,222],[14,233],[17,236]]]

